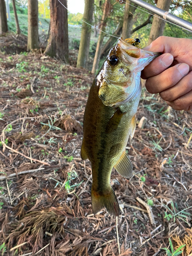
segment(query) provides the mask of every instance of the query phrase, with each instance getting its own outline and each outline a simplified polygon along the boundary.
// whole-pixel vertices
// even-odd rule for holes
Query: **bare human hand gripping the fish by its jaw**
[[[144,50],[163,53],[141,72],[147,91],[175,110],[192,110],[192,39],[160,36]]]

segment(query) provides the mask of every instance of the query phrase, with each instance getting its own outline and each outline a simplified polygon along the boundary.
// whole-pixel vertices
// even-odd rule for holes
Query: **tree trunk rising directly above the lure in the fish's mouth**
[[[136,8],[129,4],[130,4],[130,1],[126,0],[124,19],[123,19],[123,28],[122,28],[123,39],[130,38],[132,34],[133,15],[135,13]]]

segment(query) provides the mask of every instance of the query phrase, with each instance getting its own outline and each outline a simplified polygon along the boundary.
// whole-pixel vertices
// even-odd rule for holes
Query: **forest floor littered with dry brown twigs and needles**
[[[73,66],[75,54],[70,66],[7,49],[0,60],[2,255],[114,256],[117,237],[121,256],[166,255],[160,248],[170,249],[168,238],[174,250],[185,244],[183,256],[192,253],[191,112],[170,110],[143,87],[126,147],[133,177],[111,175],[122,210],[117,236],[113,216],[92,214],[91,165],[80,158],[94,75]]]

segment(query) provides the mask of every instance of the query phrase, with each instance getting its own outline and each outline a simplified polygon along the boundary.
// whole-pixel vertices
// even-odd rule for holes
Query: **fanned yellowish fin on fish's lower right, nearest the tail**
[[[114,167],[121,176],[126,178],[130,178],[132,176],[133,166],[125,151],[122,153],[119,161]]]

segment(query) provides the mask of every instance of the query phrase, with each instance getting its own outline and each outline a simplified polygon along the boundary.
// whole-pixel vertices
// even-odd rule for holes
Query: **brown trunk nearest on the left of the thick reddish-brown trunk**
[[[28,0],[27,50],[38,49],[38,1]]]

